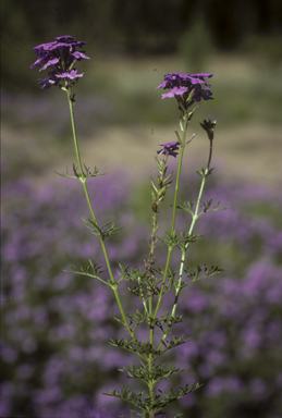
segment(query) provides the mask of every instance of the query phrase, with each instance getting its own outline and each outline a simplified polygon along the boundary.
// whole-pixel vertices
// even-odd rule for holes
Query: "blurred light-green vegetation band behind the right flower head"
[[[112,62],[106,59],[98,65],[95,61],[89,64],[94,76],[86,76],[87,89],[99,91],[115,102],[114,122],[119,123],[175,121],[177,110],[172,111],[168,99],[163,100],[161,107],[158,106],[162,91],[155,91],[155,88],[167,73],[175,70],[197,72],[197,67],[186,64],[179,57]],[[210,79],[216,99],[209,102],[211,118],[220,118],[224,124],[256,120],[280,123],[282,82],[279,78],[279,67],[281,65],[277,65],[277,69],[262,65],[259,58],[252,59],[242,54],[218,54],[207,60],[205,71],[214,73]],[[86,75],[87,72],[89,71],[86,71]],[[204,112],[206,113],[206,109]],[[201,113],[201,109],[198,113]]]

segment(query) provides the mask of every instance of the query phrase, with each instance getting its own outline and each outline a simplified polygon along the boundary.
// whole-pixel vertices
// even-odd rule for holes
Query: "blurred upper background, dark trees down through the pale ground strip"
[[[143,170],[144,161],[154,163],[152,150],[171,140],[177,119],[176,107],[171,100],[161,102],[155,88],[170,72],[208,72],[214,73],[214,100],[200,107],[197,120],[218,120],[214,158],[224,175],[280,183],[281,21],[279,0],[108,0],[82,1],[79,7],[54,0],[3,2],[3,147],[5,138],[12,135],[16,140],[19,132],[27,132],[32,140],[32,127],[50,137],[45,142],[45,162],[50,162],[47,151],[60,156],[53,145],[62,146],[70,134],[65,98],[57,90],[40,91],[37,78],[42,73],[29,65],[37,57],[33,47],[71,34],[87,42],[91,58],[79,65],[85,76],[75,93],[78,132],[93,163],[103,159],[108,170],[108,163],[123,167],[126,159],[136,171]],[[192,128],[198,130],[197,121]],[[194,147],[201,152],[200,138]],[[20,153],[32,149],[35,152],[38,145]],[[140,164],[136,153],[145,157],[138,159]]]

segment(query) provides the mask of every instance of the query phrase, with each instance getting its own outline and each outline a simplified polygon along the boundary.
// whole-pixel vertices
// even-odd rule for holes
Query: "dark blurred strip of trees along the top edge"
[[[143,56],[177,52],[181,37],[199,20],[221,51],[235,51],[249,36],[281,39],[282,34],[281,0],[9,0],[1,9],[2,77],[9,89],[22,84],[21,64],[36,59],[29,46],[54,36],[86,40],[87,50],[97,53]]]

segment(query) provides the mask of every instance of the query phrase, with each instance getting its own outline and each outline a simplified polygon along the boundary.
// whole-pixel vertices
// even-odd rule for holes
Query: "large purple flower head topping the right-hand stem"
[[[182,74],[171,73],[164,75],[163,82],[157,88],[170,88],[169,93],[164,93],[162,99],[167,97],[175,97],[181,110],[187,108],[195,101],[212,99],[210,91],[210,84],[205,78],[212,77],[213,74]],[[203,88],[201,85],[206,86]]]

